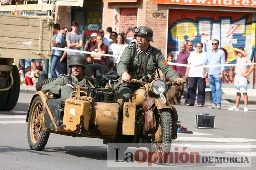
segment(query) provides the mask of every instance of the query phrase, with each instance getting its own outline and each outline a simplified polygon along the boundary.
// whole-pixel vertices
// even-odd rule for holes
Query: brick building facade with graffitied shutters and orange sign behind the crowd
[[[255,62],[256,3],[247,0],[103,0],[102,27],[125,32],[147,25],[154,31],[152,45],[164,56],[179,54],[179,44],[202,42],[204,51],[212,40],[228,52],[226,63],[236,63],[232,48],[244,47]],[[128,36],[133,36],[129,33]],[[233,87],[234,66],[226,67],[223,87]],[[249,88],[256,87],[255,71],[248,76]]]

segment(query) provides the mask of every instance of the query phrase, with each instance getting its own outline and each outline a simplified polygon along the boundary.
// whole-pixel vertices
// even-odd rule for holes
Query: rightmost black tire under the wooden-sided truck
[[[13,65],[13,85],[11,89],[8,90],[8,95],[6,95],[6,98],[7,98],[6,103],[2,110],[13,109],[17,104],[19,95],[20,95],[20,75],[18,73],[17,66]]]

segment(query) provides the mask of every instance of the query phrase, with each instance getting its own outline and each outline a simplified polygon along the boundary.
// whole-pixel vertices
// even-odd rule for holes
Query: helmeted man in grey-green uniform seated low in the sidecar
[[[69,68],[72,69],[71,75],[60,75],[55,81],[43,85],[42,91],[59,94],[61,99],[65,100],[70,98],[70,93],[76,90],[77,85],[80,87],[98,87],[96,79],[88,78],[84,72],[88,68],[84,56],[72,56]]]

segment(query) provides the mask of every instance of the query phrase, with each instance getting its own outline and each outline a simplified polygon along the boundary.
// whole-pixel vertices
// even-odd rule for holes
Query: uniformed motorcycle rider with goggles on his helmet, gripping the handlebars
[[[169,80],[183,83],[183,79],[169,65],[160,49],[150,45],[153,42],[153,30],[147,26],[135,29],[134,37],[137,44],[125,48],[117,65],[118,75],[128,82],[119,86],[119,97],[125,102],[131,99],[132,93],[139,88],[137,83],[131,84],[131,79],[145,78],[148,74],[153,78],[159,68]],[[152,80],[149,80],[152,81]]]

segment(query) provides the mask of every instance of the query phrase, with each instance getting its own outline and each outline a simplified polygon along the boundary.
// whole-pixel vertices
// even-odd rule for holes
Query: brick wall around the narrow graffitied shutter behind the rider
[[[147,25],[153,29],[153,40],[151,45],[161,49],[166,56],[166,26],[167,26],[167,7],[165,5],[153,4],[152,0],[137,0],[130,3],[104,3],[103,22],[104,30],[113,27],[114,7],[136,7],[138,8],[138,26]],[[164,13],[165,18],[155,18],[153,13]]]

